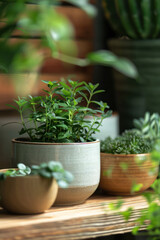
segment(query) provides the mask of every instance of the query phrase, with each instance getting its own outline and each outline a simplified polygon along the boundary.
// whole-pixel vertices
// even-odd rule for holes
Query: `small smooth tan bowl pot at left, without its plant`
[[[0,181],[0,204],[12,213],[42,213],[53,205],[57,192],[55,179],[40,176],[7,177]]]

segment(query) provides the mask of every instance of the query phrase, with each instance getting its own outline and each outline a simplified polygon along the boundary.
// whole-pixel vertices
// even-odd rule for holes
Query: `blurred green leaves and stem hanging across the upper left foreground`
[[[35,1],[29,1],[34,3]],[[7,72],[35,71],[40,67],[46,57],[40,53],[43,45],[51,50],[53,58],[64,62],[88,66],[89,64],[103,64],[115,67],[117,70],[130,77],[135,77],[135,66],[125,59],[119,59],[109,51],[97,51],[90,53],[85,59],[68,56],[64,40],[74,37],[72,24],[62,14],[58,13],[56,4],[60,1],[40,0],[36,8],[28,8],[26,1],[1,2],[0,3],[0,68]],[[82,8],[91,17],[96,15],[96,8],[88,0],[66,0]],[[50,7],[52,5],[52,7]],[[16,16],[16,18],[15,18]],[[3,23],[3,24],[2,24]],[[40,34],[41,44],[33,46],[29,41],[10,44],[10,37],[15,30],[22,31],[24,36]],[[73,46],[73,41],[71,48]]]

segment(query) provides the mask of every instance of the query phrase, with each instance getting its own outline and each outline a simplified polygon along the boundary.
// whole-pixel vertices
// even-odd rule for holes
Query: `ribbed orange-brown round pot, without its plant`
[[[123,168],[126,166],[126,169]],[[107,174],[107,171],[111,174]],[[142,184],[143,192],[158,176],[158,166],[153,166],[150,154],[101,153],[100,188],[112,195],[132,195],[133,184]]]

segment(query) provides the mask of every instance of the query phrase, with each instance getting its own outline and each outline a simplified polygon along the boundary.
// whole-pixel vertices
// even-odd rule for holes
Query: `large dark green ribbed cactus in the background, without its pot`
[[[112,28],[132,39],[157,38],[160,34],[159,0],[103,0]]]

